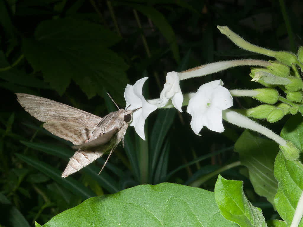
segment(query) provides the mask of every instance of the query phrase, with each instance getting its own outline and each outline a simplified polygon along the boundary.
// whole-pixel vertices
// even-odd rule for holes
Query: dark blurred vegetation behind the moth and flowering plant
[[[300,0],[0,0],[0,225],[45,223],[91,196],[138,184],[192,185],[208,176],[198,186],[213,191],[217,175],[211,173],[238,160],[233,145],[243,131],[224,122],[224,133],[203,128],[198,137],[186,107],[183,113],[156,110],[145,122],[147,140],[129,127],[125,148],[118,146],[100,175],[106,157],[62,179],[74,153],[71,143],[44,130],[14,92],[102,117],[116,110],[106,92],[124,108],[126,84],[144,76],[149,77],[144,94],[151,99],[159,97],[169,71],[229,59],[268,59],[236,47],[217,25],[264,48],[296,52],[303,45],[302,9]],[[182,81],[181,89],[193,92],[218,79],[228,89],[260,87],[248,74],[249,67],[233,68]],[[235,98],[234,105],[258,103]],[[277,133],[281,125],[275,125]],[[267,219],[276,215],[254,192],[245,167],[226,169],[221,174],[243,180],[248,198]]]

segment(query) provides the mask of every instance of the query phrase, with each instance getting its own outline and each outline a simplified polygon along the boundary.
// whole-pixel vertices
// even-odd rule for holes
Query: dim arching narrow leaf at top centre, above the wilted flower
[[[177,63],[179,63],[180,54],[179,54],[179,48],[178,48],[175,32],[172,29],[169,22],[166,20],[165,16],[151,6],[138,5],[138,4],[128,4],[128,5],[132,6],[133,8],[144,14],[146,17],[151,19],[151,21],[155,24],[155,26],[159,29],[159,31],[162,33],[164,38],[167,40],[168,44],[170,44],[172,54],[175,60],[177,61]]]

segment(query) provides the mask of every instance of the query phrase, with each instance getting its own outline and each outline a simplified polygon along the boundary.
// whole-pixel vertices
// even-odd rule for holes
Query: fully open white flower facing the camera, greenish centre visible
[[[199,87],[189,100],[187,113],[191,114],[191,128],[199,136],[203,126],[215,132],[223,132],[222,110],[233,105],[229,91],[222,87],[223,81],[211,81]]]

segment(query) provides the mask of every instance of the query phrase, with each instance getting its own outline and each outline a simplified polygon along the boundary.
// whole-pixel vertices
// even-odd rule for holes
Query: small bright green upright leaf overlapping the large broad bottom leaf
[[[241,227],[266,227],[260,208],[252,206],[244,195],[243,182],[226,180],[218,176],[215,185],[215,199],[221,214]]]

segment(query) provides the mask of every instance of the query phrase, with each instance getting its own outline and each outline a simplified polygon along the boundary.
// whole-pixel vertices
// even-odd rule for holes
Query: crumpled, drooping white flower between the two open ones
[[[164,107],[167,104],[168,100],[171,99],[174,107],[182,112],[181,107],[183,102],[183,95],[179,82],[180,78],[177,72],[172,71],[166,74],[166,82],[160,94],[161,103],[158,104],[159,107]]]

